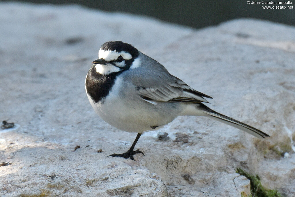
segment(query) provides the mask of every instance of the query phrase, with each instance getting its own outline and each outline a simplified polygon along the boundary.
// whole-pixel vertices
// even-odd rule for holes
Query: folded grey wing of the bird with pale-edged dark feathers
[[[152,101],[209,103],[203,97],[212,99],[192,89],[168,71],[155,72],[141,68],[137,69],[136,74],[130,72],[128,78],[131,79],[142,99],[151,103]]]

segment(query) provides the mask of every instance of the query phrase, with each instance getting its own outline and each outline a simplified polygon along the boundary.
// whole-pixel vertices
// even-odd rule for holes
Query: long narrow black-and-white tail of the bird
[[[254,127],[249,126],[245,123],[237,121],[233,118],[230,118],[228,116],[224,116],[221,113],[213,111],[212,109],[210,109],[209,107],[207,107],[203,103],[198,103],[198,104],[200,104],[200,106],[198,106],[198,108],[201,109],[204,113],[208,114],[210,118],[213,118],[217,121],[220,121],[222,123],[225,123],[225,124],[228,124],[228,125],[233,126],[235,128],[238,128],[242,131],[246,131],[247,133],[250,133],[251,135],[258,137],[258,138],[269,137],[268,134],[258,130],[257,128],[254,128]]]

